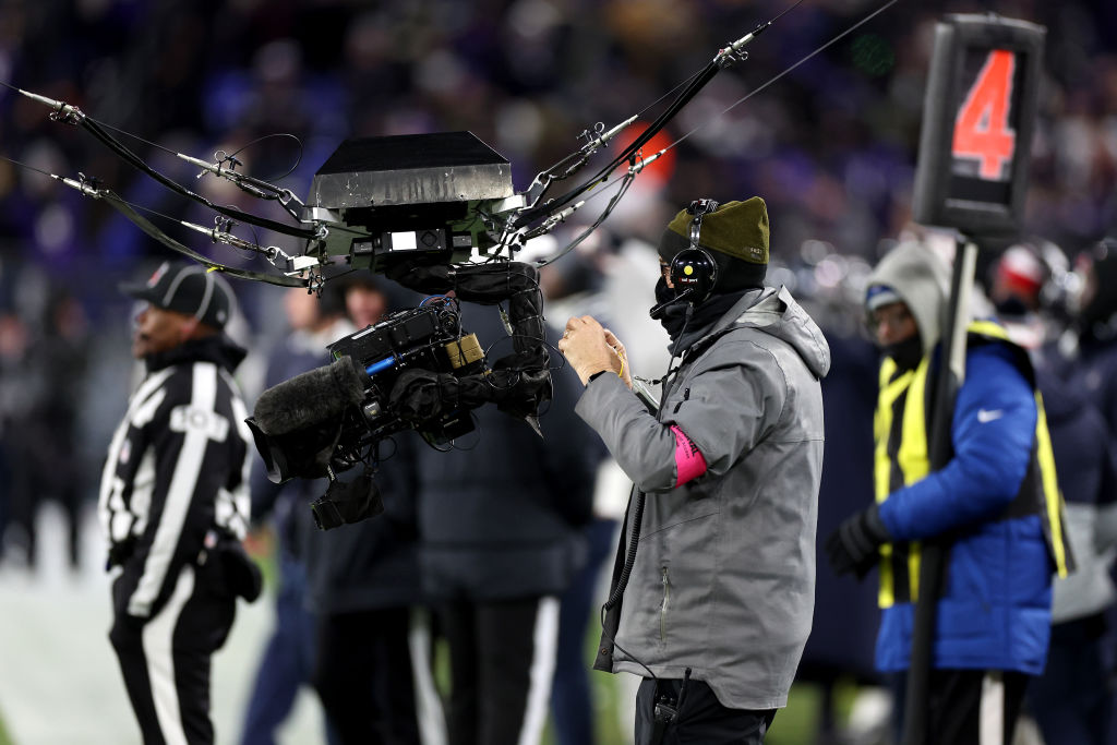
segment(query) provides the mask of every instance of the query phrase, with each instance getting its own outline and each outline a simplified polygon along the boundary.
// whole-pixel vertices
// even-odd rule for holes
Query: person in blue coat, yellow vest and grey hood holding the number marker
[[[1001,326],[970,325],[954,403],[953,455],[928,459],[947,271],[900,243],[869,278],[866,306],[885,356],[875,419],[876,504],[827,541],[838,573],[880,571],[882,672],[907,670],[920,542],[948,542],[937,599],[927,743],[1012,741],[1029,676],[1043,671],[1051,577],[1066,574],[1051,443],[1027,353]]]

